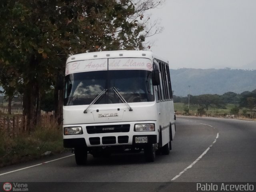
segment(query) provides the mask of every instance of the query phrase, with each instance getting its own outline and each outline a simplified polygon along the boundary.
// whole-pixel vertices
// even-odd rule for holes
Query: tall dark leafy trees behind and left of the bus
[[[1,0],[0,86],[22,98],[30,130],[40,110],[62,122],[66,58],[102,50],[143,50],[160,32],[147,11],[158,0]],[[57,84],[60,82],[60,84]]]

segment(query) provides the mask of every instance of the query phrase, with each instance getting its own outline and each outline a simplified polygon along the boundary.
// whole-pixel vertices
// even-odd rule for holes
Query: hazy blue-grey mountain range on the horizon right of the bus
[[[176,96],[242,93],[256,89],[256,70],[192,69],[170,70],[172,90]],[[190,86],[190,89],[189,87]]]

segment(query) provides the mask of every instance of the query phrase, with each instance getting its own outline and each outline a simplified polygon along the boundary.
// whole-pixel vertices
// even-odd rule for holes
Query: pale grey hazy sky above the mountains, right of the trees
[[[151,14],[164,30],[150,50],[170,68],[256,69],[256,0],[166,0]]]

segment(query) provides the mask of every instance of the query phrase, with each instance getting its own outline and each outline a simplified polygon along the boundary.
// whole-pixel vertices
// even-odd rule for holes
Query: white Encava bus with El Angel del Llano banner
[[[102,51],[66,62],[63,142],[77,164],[111,153],[169,154],[176,131],[168,61],[149,51]]]

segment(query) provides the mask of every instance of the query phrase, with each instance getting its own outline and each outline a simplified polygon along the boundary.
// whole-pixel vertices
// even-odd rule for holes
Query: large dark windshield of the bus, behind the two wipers
[[[122,103],[112,88],[127,102],[155,100],[152,72],[148,70],[100,70],[68,74],[65,77],[64,106],[88,105],[103,90],[95,104]]]

